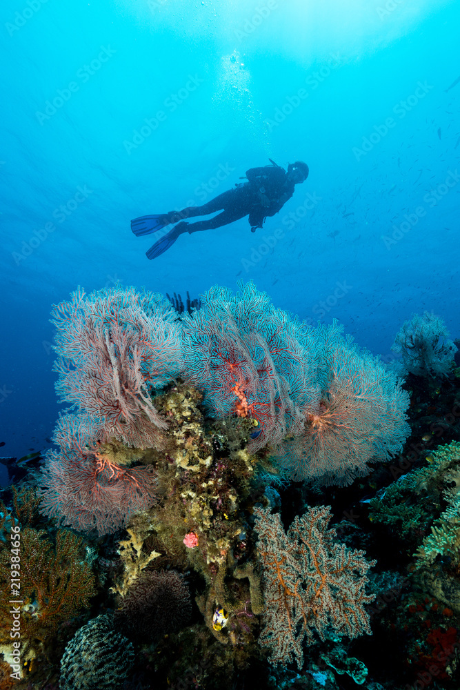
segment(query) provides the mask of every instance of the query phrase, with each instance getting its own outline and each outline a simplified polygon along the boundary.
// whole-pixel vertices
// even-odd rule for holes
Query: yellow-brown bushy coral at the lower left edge
[[[88,609],[95,594],[95,578],[83,538],[69,530],[52,537],[32,524],[40,520],[39,498],[14,490],[9,513],[0,504],[0,642],[6,653],[14,628],[12,603],[20,613],[21,658],[48,653],[59,624]]]

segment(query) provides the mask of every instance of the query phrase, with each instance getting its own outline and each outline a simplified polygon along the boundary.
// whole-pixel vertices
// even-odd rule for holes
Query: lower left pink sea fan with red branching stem
[[[61,416],[39,482],[41,512],[58,524],[100,535],[117,531],[131,513],[157,500],[157,474],[150,465],[122,468],[97,451],[97,424],[89,417]]]

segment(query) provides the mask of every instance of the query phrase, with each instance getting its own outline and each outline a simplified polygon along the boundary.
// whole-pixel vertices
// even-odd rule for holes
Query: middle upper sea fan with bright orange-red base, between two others
[[[183,319],[183,356],[212,416],[257,420],[255,451],[301,431],[301,408],[315,393],[315,364],[297,317],[275,309],[252,282],[239,288],[237,295],[212,288]]]

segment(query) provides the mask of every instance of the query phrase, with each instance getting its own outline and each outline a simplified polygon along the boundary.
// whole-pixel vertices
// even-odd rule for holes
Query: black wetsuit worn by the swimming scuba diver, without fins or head
[[[236,188],[219,194],[203,206],[188,206],[177,211],[177,220],[183,220],[222,210],[222,213],[214,218],[189,224],[184,232],[191,234],[199,230],[221,228],[246,215],[249,215],[251,228],[261,228],[266,217],[278,213],[294,193],[294,183],[288,181],[283,168],[250,168],[246,172],[246,177],[247,182],[237,184]],[[174,219],[172,222],[177,220]]]

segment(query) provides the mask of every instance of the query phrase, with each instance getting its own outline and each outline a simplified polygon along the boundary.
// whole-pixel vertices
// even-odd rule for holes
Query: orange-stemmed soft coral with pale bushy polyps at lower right
[[[321,640],[329,628],[349,638],[370,634],[365,604],[374,596],[364,587],[377,561],[334,541],[335,530],[327,530],[330,506],[296,517],[287,534],[279,515],[260,508],[254,513],[265,600],[259,644],[270,649],[272,663],[295,660],[301,668],[303,639],[311,644],[313,631]]]

